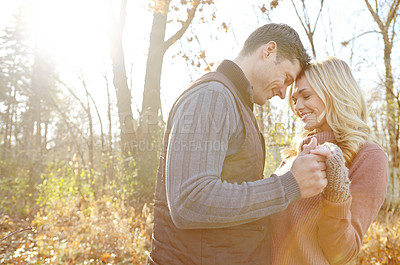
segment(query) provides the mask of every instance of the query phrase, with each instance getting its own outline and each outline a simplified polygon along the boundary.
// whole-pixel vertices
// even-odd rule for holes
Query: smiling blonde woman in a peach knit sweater
[[[345,62],[329,57],[311,64],[289,93],[304,132],[283,152],[278,171],[309,152],[302,147],[312,137],[331,155],[323,192],[270,217],[272,264],[346,264],[361,250],[384,201],[387,157],[371,140],[366,104]]]

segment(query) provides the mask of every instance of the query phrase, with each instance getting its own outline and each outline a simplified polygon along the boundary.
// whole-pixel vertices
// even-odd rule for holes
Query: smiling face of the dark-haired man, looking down
[[[264,105],[274,96],[284,99],[286,88],[290,86],[301,71],[298,60],[290,60],[273,52],[263,58],[254,68],[250,82],[253,85],[254,103]]]

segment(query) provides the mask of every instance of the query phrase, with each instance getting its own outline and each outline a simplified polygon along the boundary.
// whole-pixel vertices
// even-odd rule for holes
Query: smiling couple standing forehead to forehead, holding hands
[[[160,156],[149,264],[346,264],[358,254],[384,201],[387,157],[348,65],[309,60],[292,28],[267,24],[178,98]],[[253,105],[285,98],[288,86],[304,132],[264,178]]]

